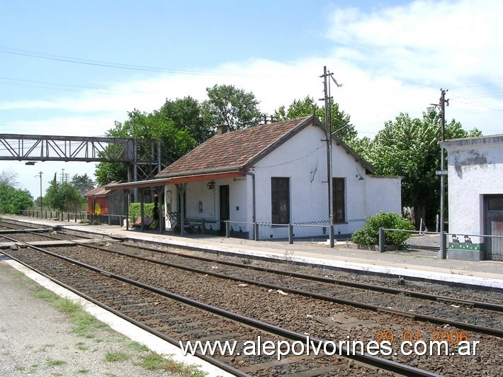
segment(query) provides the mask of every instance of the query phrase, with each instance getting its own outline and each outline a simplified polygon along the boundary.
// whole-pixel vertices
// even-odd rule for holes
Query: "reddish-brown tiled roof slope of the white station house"
[[[215,135],[166,167],[157,178],[243,168],[311,124],[312,118],[307,116]]]

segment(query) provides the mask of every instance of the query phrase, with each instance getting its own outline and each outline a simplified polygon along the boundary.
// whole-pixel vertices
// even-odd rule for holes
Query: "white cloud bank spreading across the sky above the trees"
[[[501,11],[500,1],[464,0],[414,1],[369,13],[334,8],[327,28],[331,43],[324,56],[222,62],[213,67],[219,74],[159,74],[112,84],[103,91],[4,102],[4,111],[50,110],[51,115],[36,121],[18,119],[11,122],[15,130],[3,132],[67,135],[72,130],[72,135],[103,135],[133,108],[149,112],[166,98],[184,96],[203,101],[205,88],[214,84],[252,91],[261,101],[261,111],[272,113],[294,99],[322,98],[320,75],[326,65],[344,84],[333,87],[332,95],[361,136],[374,135],[400,112],[421,116],[429,103],[438,102],[441,87],[451,89],[448,119],[456,118],[467,129],[477,126],[485,134],[500,133],[503,101],[490,96],[498,86],[477,85],[503,84]]]

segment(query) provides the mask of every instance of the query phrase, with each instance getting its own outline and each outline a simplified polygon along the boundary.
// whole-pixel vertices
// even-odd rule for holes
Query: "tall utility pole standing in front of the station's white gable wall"
[[[330,77],[332,81],[339,87],[340,84],[333,77],[333,73],[327,72],[327,66],[323,67],[323,92],[324,98],[320,101],[325,103],[325,128],[327,136],[327,180],[328,180],[328,205],[329,205],[329,243],[330,247],[334,247],[334,191],[333,191],[333,181],[332,181],[332,106],[330,95]]]

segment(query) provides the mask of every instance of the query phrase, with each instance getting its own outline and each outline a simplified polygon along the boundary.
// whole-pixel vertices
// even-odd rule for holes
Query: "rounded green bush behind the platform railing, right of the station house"
[[[380,212],[375,216],[365,218],[366,224],[361,229],[351,235],[351,241],[357,244],[378,244],[379,243],[379,228],[414,230],[414,225],[397,213]],[[392,232],[385,230],[385,244],[395,244],[402,246],[405,241],[411,236],[407,232]]]

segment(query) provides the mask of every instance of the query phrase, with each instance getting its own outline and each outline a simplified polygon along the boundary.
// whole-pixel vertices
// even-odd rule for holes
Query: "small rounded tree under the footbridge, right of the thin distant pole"
[[[49,188],[45,191],[44,203],[55,210],[77,212],[86,205],[86,199],[72,184],[50,181]]]

